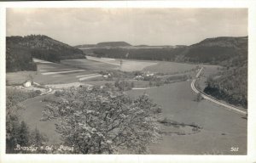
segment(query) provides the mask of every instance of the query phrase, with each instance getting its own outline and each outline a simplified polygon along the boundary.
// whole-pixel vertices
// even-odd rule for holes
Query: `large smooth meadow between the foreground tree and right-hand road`
[[[132,90],[132,97],[148,93],[149,97],[163,108],[163,116],[173,121],[195,123],[201,132],[192,135],[166,135],[159,143],[150,147],[152,154],[204,155],[218,152],[223,155],[245,155],[247,153],[247,120],[230,110],[207,100],[196,102],[190,82]],[[230,152],[231,147],[239,151]]]

